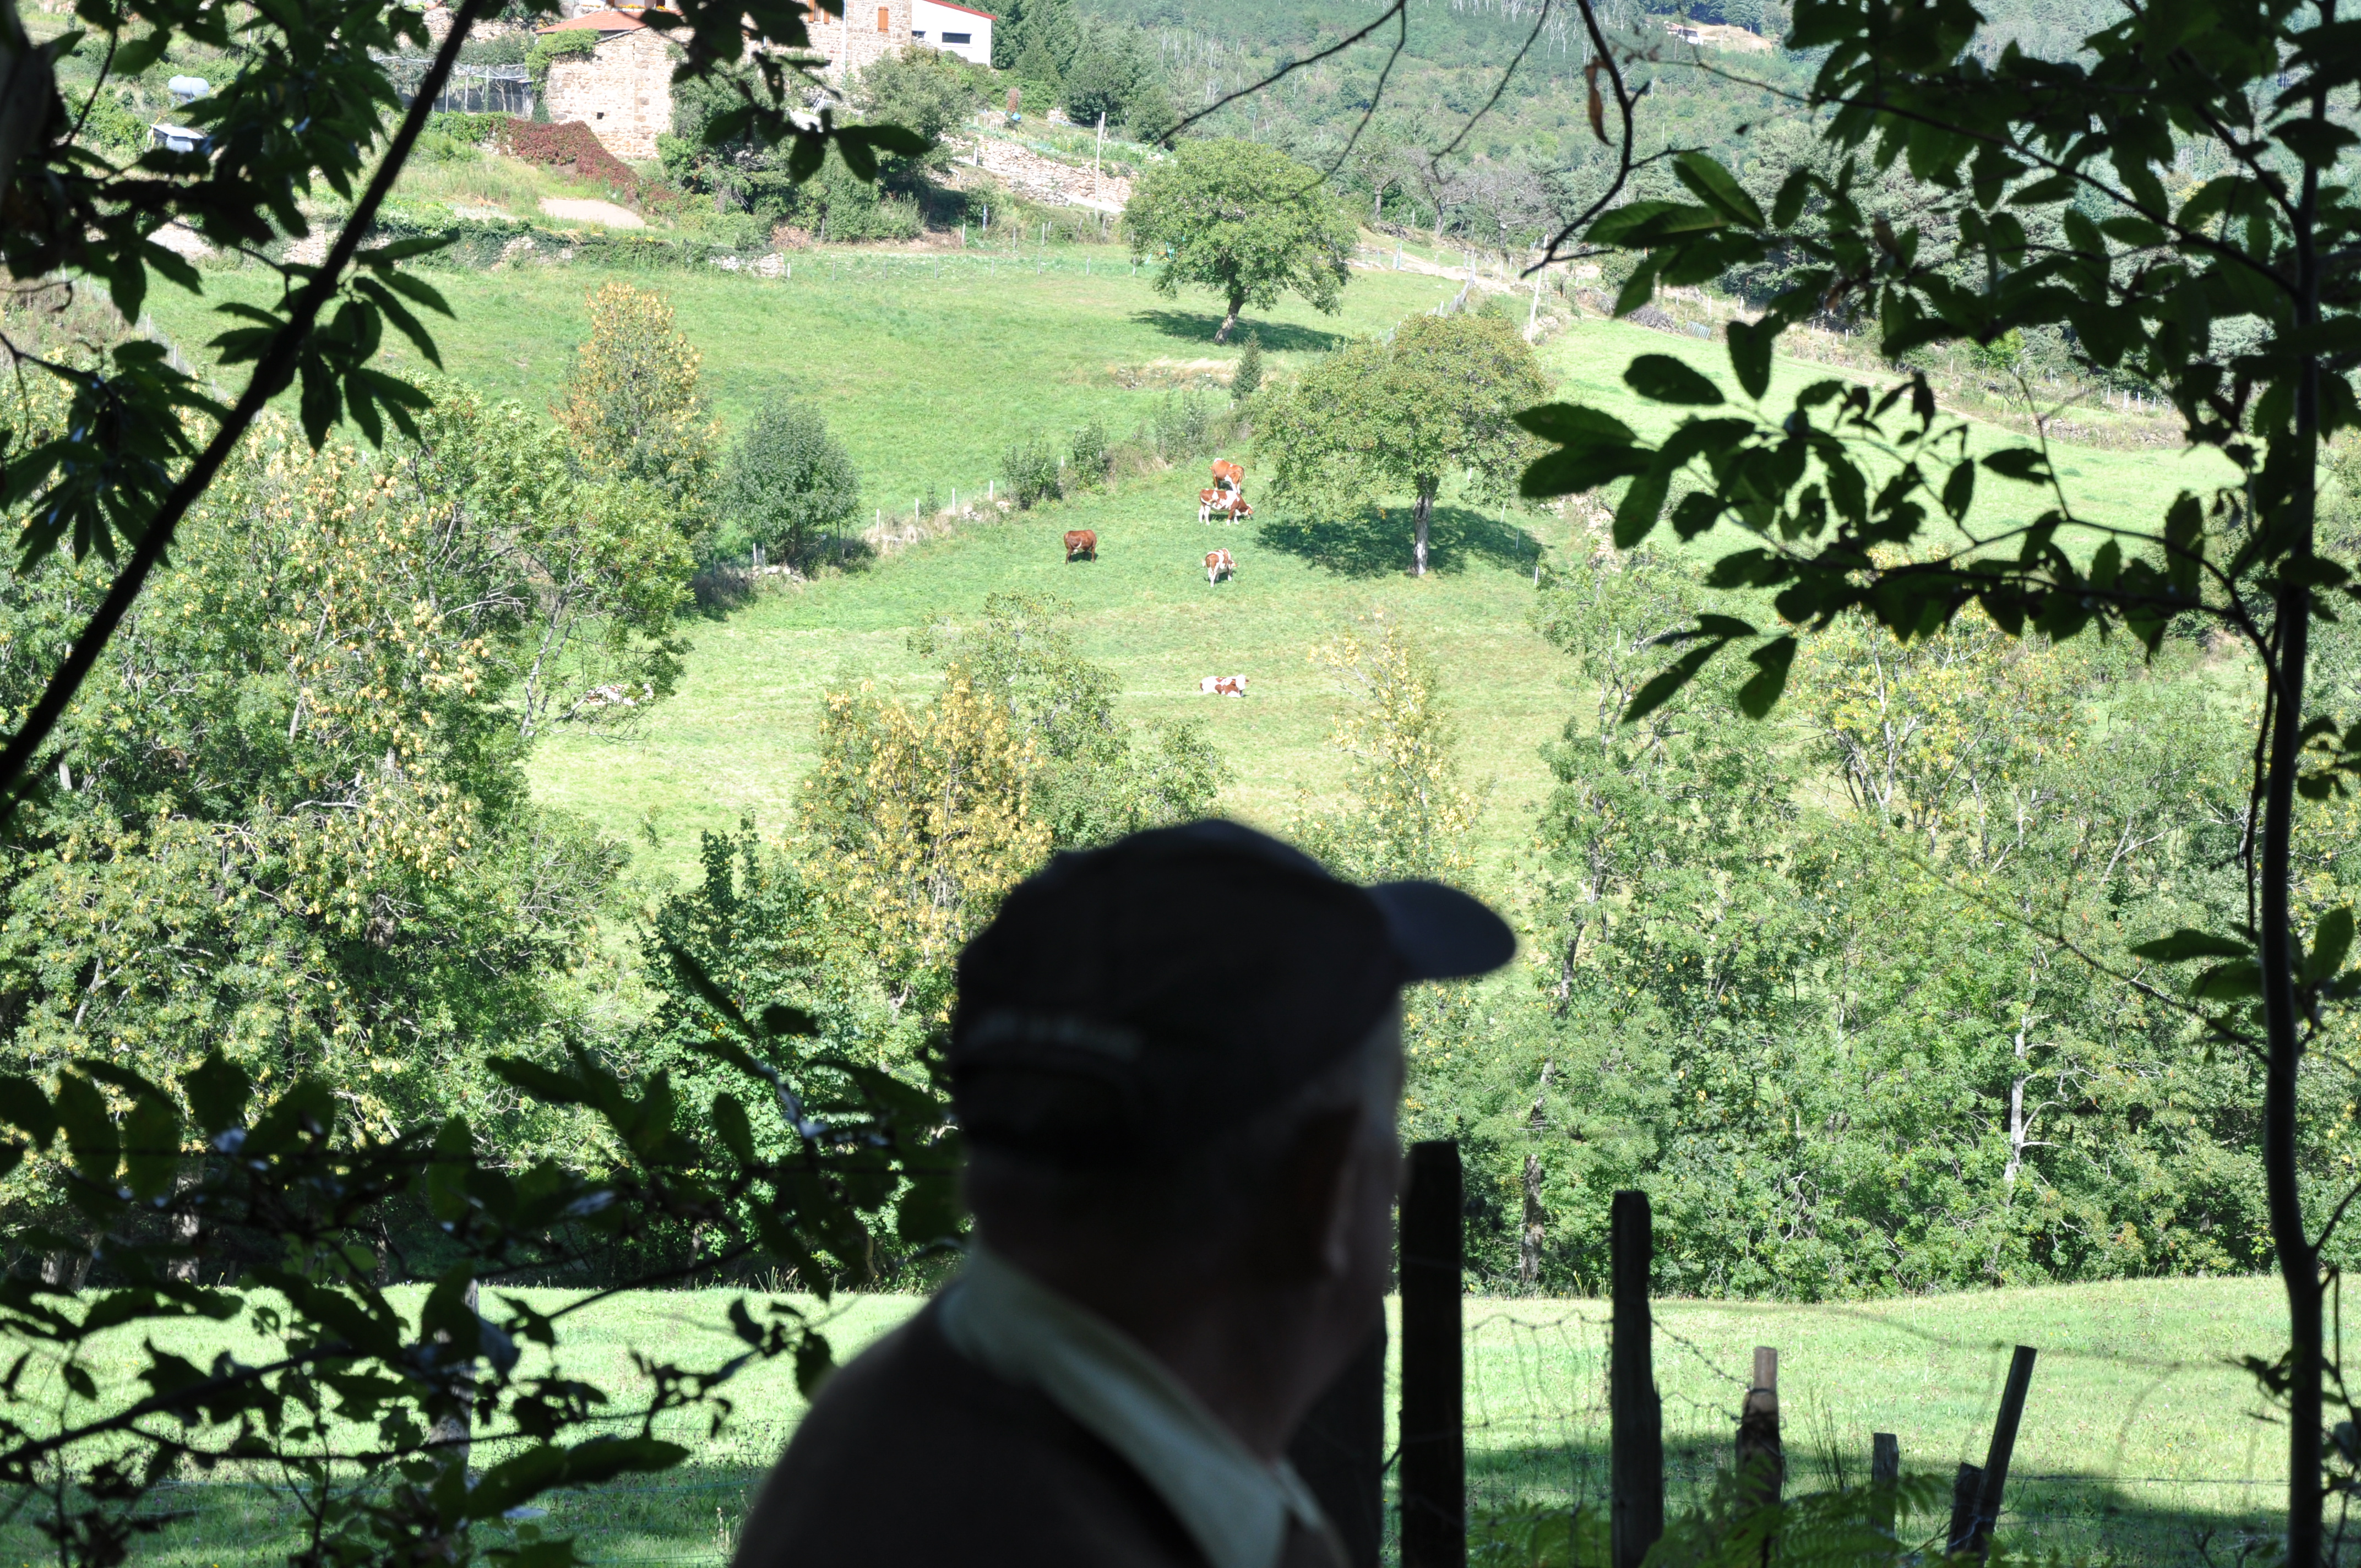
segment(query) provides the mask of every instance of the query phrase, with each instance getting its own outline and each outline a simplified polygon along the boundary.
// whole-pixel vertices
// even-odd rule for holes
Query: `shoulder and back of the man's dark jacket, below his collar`
[[[746,1518],[739,1568],[1202,1568],[1162,1497],[1046,1396],[918,1313],[829,1379]]]

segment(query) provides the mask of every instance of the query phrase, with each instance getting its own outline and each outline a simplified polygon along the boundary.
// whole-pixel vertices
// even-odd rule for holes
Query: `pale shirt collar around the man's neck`
[[[1138,1341],[982,1242],[968,1247],[968,1266],[937,1311],[944,1339],[961,1355],[1039,1389],[1129,1459],[1211,1568],[1275,1568],[1291,1523],[1334,1540],[1287,1459],[1256,1459]]]

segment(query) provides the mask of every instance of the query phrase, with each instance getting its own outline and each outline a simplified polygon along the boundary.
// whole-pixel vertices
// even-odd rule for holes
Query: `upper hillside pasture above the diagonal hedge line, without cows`
[[[444,366],[529,409],[560,401],[560,383],[588,338],[586,298],[616,276],[671,298],[680,328],[704,352],[713,409],[737,430],[767,397],[817,401],[852,451],[864,498],[909,515],[930,486],[944,503],[982,494],[1001,453],[1020,439],[1098,418],[1114,439],[1178,387],[1228,375],[1240,340],[1216,345],[1221,307],[1202,290],[1164,300],[1117,246],[970,248],[926,255],[876,250],[789,253],[793,276],[718,269],[614,274],[588,267],[427,269],[456,321],[432,319]],[[161,288],[156,324],[196,354],[220,331],[212,298],[253,300],[260,269],[208,272],[208,300]],[[1275,366],[1353,333],[1393,326],[1457,293],[1410,272],[1355,272],[1343,312],[1287,302],[1254,314]],[[394,368],[420,368],[390,335]],[[1218,392],[1216,392],[1218,397]]]

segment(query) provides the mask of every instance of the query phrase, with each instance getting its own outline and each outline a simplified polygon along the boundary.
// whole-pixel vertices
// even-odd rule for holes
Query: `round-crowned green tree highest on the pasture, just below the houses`
[[[1133,257],[1157,262],[1157,293],[1188,283],[1225,302],[1216,342],[1287,293],[1334,314],[1358,234],[1317,170],[1254,142],[1183,142],[1140,175],[1124,227]]]

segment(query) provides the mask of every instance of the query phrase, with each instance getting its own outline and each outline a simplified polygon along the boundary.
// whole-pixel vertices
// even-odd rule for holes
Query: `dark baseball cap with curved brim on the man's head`
[[[951,1103],[977,1148],[1169,1159],[1343,1060],[1405,985],[1513,954],[1435,881],[1362,888],[1235,822],[1131,834],[1053,857],[959,954]]]

